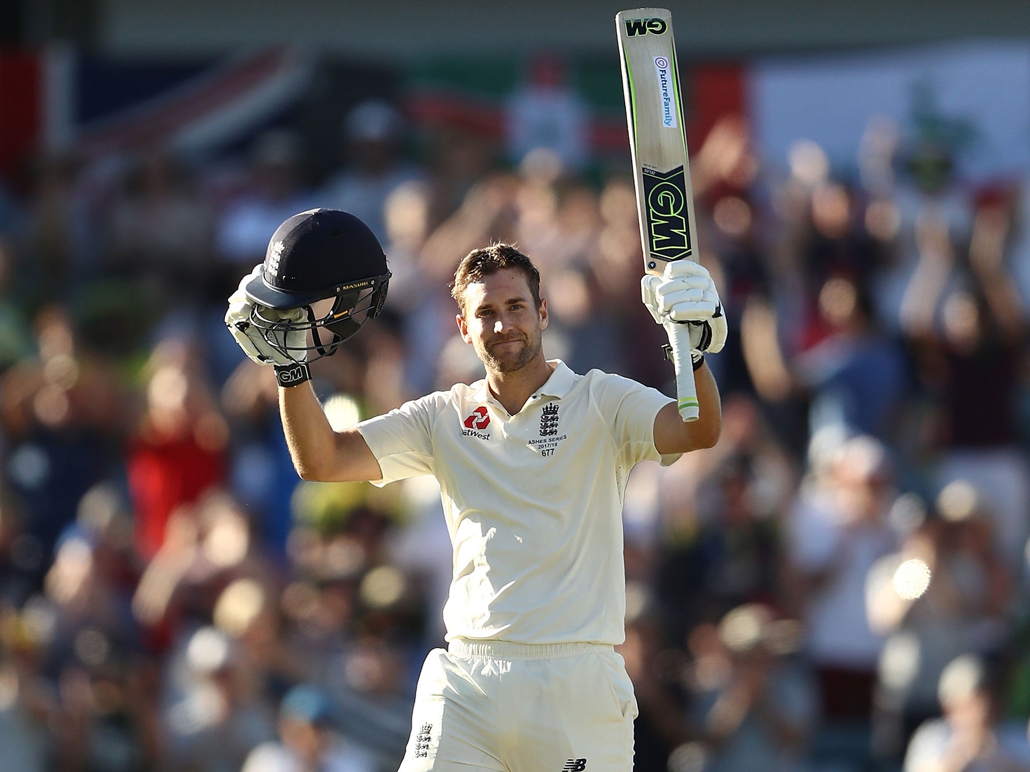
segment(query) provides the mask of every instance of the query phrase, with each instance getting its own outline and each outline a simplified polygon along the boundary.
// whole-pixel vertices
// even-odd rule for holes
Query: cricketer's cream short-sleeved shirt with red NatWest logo
[[[435,475],[454,548],[447,640],[621,643],[622,497],[654,447],[660,391],[560,360],[509,416],[486,381],[357,425],[382,480]]]

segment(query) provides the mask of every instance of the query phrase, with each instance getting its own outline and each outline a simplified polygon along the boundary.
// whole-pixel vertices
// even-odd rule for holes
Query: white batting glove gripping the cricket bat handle
[[[726,315],[715,282],[699,262],[675,260],[665,264],[661,276],[641,279],[644,306],[668,331],[670,324],[690,325],[693,351],[718,353],[726,344]]]

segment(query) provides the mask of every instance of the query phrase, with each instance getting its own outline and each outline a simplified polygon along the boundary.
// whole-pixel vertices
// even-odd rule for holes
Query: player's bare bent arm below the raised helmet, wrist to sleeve
[[[380,480],[382,471],[355,428],[334,431],[310,382],[279,387],[279,415],[294,467],[303,480]]]

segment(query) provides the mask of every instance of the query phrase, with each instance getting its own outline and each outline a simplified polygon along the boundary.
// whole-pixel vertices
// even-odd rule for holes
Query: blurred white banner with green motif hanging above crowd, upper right
[[[959,138],[969,180],[1030,172],[1030,42],[759,61],[749,90],[758,147],[775,166],[810,139],[834,169],[854,170],[870,118],[886,116],[903,143],[927,119]]]

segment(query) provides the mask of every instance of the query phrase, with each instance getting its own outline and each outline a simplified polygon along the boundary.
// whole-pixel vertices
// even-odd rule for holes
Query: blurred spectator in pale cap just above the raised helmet
[[[318,206],[350,212],[385,244],[386,200],[398,186],[421,176],[401,160],[404,121],[388,102],[368,100],[347,113],[342,135],[347,166],[325,184]]]

